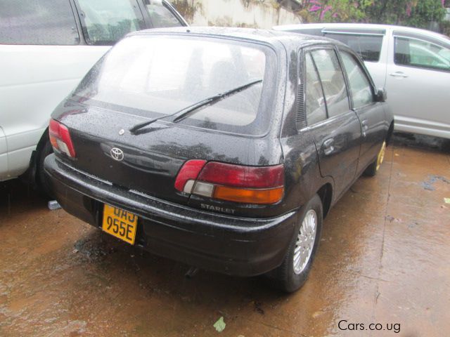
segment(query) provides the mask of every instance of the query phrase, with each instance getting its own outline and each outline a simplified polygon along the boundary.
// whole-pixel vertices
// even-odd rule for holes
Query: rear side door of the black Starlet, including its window
[[[307,124],[319,154],[322,176],[331,176],[338,198],[356,176],[361,125],[350,109],[345,78],[335,49],[304,53]]]

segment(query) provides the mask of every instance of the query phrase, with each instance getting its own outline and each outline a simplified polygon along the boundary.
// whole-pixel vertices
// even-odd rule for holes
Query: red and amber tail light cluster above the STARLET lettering
[[[179,171],[175,188],[212,199],[275,204],[283,198],[284,168],[282,164],[240,166],[190,160]]]

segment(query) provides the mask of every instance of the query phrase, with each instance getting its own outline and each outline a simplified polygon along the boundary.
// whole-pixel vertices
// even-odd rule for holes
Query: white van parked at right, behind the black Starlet
[[[277,30],[337,39],[359,53],[387,91],[395,130],[450,138],[450,39],[428,30],[366,24],[306,24]]]

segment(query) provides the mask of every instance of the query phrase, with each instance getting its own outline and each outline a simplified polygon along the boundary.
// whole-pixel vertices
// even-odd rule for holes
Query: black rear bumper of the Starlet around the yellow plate
[[[160,256],[229,275],[255,276],[278,267],[293,237],[297,212],[275,218],[209,213],[116,187],[64,164],[44,163],[49,184],[68,213],[100,227],[103,204],[139,216],[136,244]]]

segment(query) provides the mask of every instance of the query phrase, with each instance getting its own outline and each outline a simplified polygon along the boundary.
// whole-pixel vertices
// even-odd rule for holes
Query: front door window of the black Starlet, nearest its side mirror
[[[366,73],[362,70],[359,62],[345,51],[342,51],[340,54],[349,79],[354,108],[358,109],[373,103],[371,81],[367,78]]]

